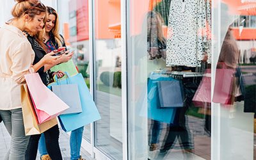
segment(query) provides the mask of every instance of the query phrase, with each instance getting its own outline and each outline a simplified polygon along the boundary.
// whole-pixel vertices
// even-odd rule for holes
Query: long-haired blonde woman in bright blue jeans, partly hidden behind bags
[[[48,51],[53,51],[55,49],[58,49],[58,47],[66,47],[65,41],[63,37],[59,33],[59,19],[58,19],[58,13],[53,8],[47,6],[47,20],[45,23],[45,35],[44,35],[44,43],[47,46]],[[74,53],[70,54],[63,54],[61,56],[59,63],[66,62],[72,58]],[[63,70],[65,71],[65,70]],[[83,130],[84,127],[81,127],[79,129],[76,129],[71,132],[70,135],[70,159],[82,159],[80,156],[80,150],[81,150],[81,143],[82,143],[82,137],[83,137]],[[40,138],[39,142],[39,152],[41,158],[49,159],[48,152],[46,150],[45,145],[45,136],[44,134]],[[52,157],[51,157],[52,158]]]

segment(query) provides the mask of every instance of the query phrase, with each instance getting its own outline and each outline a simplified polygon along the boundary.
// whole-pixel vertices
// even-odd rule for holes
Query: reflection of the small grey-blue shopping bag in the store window
[[[159,81],[157,88],[161,108],[184,106],[184,92],[180,81]]]

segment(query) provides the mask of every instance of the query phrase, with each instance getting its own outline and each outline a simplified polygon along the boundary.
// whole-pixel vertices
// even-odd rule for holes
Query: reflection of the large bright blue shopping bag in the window
[[[160,108],[159,93],[157,83],[159,81],[172,81],[172,77],[159,77],[157,79],[148,79],[147,92],[141,94],[140,116],[147,116],[152,120],[172,124],[176,108]],[[146,105],[144,104],[146,103]],[[147,113],[147,115],[145,114]]]

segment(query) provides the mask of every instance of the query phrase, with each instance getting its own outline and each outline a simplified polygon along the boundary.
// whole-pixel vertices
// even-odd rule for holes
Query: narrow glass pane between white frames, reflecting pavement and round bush
[[[95,1],[95,146],[122,159],[122,86],[120,1]]]

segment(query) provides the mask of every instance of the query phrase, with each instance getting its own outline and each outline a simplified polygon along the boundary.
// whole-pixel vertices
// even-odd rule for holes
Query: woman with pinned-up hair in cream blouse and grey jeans
[[[35,52],[22,31],[36,31],[44,25],[45,6],[41,3],[16,0],[13,19],[0,28],[0,115],[11,136],[10,149],[4,159],[24,159],[29,136],[25,136],[20,101],[20,85],[29,69],[38,71],[45,64],[55,63],[54,52],[33,63]],[[33,66],[31,67],[31,65]]]

